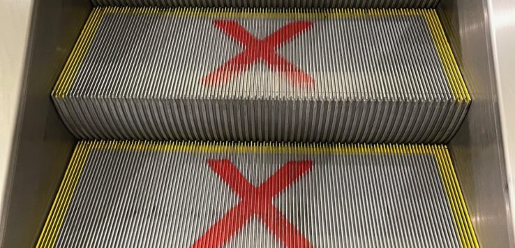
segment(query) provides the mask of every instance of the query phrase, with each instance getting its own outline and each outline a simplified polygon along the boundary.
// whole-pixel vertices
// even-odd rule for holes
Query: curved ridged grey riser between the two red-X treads
[[[466,112],[465,105],[456,108],[456,103],[377,101],[93,99],[77,105],[73,100],[57,99],[56,103],[75,136],[105,140],[445,143]],[[67,108],[74,104],[75,108]]]

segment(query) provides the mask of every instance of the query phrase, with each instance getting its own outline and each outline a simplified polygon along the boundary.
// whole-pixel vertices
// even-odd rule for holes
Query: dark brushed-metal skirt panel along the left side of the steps
[[[89,1],[34,1],[20,109],[11,154],[1,247],[31,247],[57,191],[75,139],[50,99]]]

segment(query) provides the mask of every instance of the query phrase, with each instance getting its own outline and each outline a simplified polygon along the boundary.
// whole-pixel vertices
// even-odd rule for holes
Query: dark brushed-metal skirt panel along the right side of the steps
[[[498,89],[486,1],[442,1],[442,23],[454,47],[472,104],[449,143],[482,247],[513,247]]]

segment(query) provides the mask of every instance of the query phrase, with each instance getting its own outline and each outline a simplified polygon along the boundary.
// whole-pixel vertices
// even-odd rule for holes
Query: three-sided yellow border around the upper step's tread
[[[463,77],[458,69],[458,64],[451,52],[447,38],[445,37],[442,24],[435,10],[426,9],[327,9],[327,10],[280,10],[280,9],[244,9],[234,10],[230,8],[222,9],[202,9],[202,8],[130,8],[130,7],[97,7],[94,8],[89,16],[82,33],[73,48],[63,72],[59,76],[52,96],[55,98],[65,98],[70,92],[71,86],[79,71],[80,64],[86,57],[89,45],[98,30],[98,26],[106,14],[164,14],[164,15],[186,15],[202,17],[296,17],[296,18],[335,18],[335,17],[365,17],[365,16],[408,16],[417,15],[424,17],[426,24],[433,38],[435,48],[438,52],[440,62],[444,68],[447,82],[451,92],[459,103],[470,102],[470,95],[463,81]]]

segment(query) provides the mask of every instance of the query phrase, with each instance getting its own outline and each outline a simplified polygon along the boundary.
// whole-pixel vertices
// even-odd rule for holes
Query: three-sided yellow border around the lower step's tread
[[[82,168],[93,149],[141,150],[145,152],[244,152],[303,154],[429,154],[438,163],[438,171],[454,219],[454,228],[462,247],[479,247],[465,200],[445,145],[291,145],[288,143],[200,143],[145,141],[82,141],[73,152],[70,164],[48,215],[36,247],[54,247],[59,236]]]

